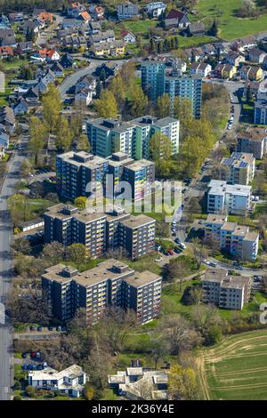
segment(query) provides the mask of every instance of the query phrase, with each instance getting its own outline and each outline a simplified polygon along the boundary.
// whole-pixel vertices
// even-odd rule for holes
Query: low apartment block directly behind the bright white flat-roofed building
[[[229,168],[229,173],[223,180],[231,184],[248,184],[255,176],[255,157],[246,152],[233,152],[231,157],[224,157],[222,165]]]

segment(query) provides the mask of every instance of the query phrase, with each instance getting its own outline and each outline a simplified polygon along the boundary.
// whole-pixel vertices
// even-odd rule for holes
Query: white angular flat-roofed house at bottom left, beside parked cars
[[[28,385],[36,390],[59,390],[69,397],[79,398],[84,390],[86,374],[82,367],[73,365],[61,372],[51,367],[28,372]]]

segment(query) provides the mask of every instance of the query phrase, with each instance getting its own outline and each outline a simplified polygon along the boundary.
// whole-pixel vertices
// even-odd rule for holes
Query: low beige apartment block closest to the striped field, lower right
[[[223,269],[207,269],[202,279],[202,300],[221,309],[243,309],[249,301],[251,278],[229,276]]]

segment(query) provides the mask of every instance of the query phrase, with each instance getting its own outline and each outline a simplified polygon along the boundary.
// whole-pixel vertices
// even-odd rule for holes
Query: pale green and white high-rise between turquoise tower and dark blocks
[[[173,154],[179,152],[179,120],[174,117],[158,119],[150,115],[129,122],[117,119],[91,119],[86,123],[88,139],[94,155],[107,158],[117,152],[139,160],[150,157],[150,138],[166,134],[172,142]]]

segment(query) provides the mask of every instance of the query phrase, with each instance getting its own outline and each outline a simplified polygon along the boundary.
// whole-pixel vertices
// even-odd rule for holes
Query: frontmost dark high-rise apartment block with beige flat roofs
[[[77,309],[85,309],[89,324],[109,306],[133,309],[139,324],[158,318],[160,312],[161,277],[112,259],[83,273],[63,264],[50,267],[42,276],[42,290],[50,315],[62,323],[74,318]]]

